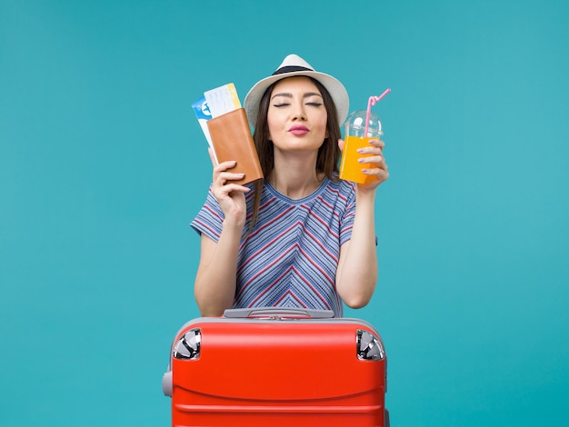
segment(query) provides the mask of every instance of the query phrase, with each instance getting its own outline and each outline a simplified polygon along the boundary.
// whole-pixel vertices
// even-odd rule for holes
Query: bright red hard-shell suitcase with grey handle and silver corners
[[[227,310],[175,335],[163,378],[173,426],[387,426],[374,327],[332,312]]]

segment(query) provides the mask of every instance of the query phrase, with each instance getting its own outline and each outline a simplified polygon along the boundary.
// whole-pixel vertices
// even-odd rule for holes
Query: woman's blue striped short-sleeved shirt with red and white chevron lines
[[[314,194],[294,200],[265,181],[255,227],[246,235],[253,193],[245,196],[248,215],[239,248],[234,307],[303,307],[342,316],[335,275],[340,246],[352,236],[354,184],[324,178]],[[223,220],[210,191],[191,225],[217,242]]]

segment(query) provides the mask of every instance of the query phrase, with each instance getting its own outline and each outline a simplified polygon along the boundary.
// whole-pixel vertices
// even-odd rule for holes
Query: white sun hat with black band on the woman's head
[[[265,77],[263,80],[257,82],[245,95],[245,113],[249,123],[255,127],[257,121],[257,113],[259,110],[259,103],[265,94],[266,89],[275,82],[282,80],[286,77],[293,77],[295,75],[305,75],[314,78],[320,82],[328,91],[332,100],[334,101],[336,112],[338,116],[338,124],[343,124],[345,117],[348,114],[350,99],[344,84],[341,84],[332,75],[319,73],[314,71],[312,65],[308,64],[298,55],[288,55],[284,58],[283,64],[279,65],[275,73]]]

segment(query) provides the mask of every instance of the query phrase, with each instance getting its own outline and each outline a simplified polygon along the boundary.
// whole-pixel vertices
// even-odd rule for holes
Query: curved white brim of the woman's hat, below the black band
[[[348,114],[348,109],[350,107],[350,98],[348,96],[348,92],[345,90],[344,84],[341,84],[332,75],[319,73],[317,71],[310,71],[310,70],[294,71],[292,73],[274,74],[265,77],[263,80],[257,82],[251,88],[249,93],[245,95],[244,106],[249,124],[251,124],[255,128],[257,121],[257,114],[259,111],[259,104],[261,103],[261,98],[263,97],[267,88],[271,84],[274,84],[275,82],[278,82],[279,80],[283,80],[288,77],[294,77],[300,75],[306,77],[312,77],[314,78],[314,80],[317,80],[326,88],[326,90],[332,97],[332,100],[334,101],[338,117],[338,124],[340,125],[343,124]]]

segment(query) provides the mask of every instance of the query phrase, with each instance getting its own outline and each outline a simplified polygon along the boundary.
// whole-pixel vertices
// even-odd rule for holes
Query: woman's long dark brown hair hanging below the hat
[[[323,84],[318,82],[312,77],[307,76],[316,85],[324,101],[326,109],[326,134],[324,143],[318,149],[316,157],[316,172],[323,173],[331,180],[336,180],[337,176],[334,173],[338,172],[338,162],[340,160],[340,149],[338,148],[338,139],[340,139],[340,124],[338,123],[338,114],[336,114],[336,106],[332,96],[328,93]],[[285,77],[286,78],[286,77]],[[275,88],[275,84],[281,82],[283,79],[278,80],[274,84],[267,87],[265,94],[259,103],[259,110],[257,112],[257,122],[255,126],[255,133],[253,140],[255,141],[255,148],[259,155],[261,169],[263,175],[266,177],[275,168],[275,147],[272,141],[268,140],[269,124],[267,121],[267,114],[269,111],[269,104],[271,94]],[[255,183],[255,200],[253,204],[253,214],[251,216],[251,223],[249,232],[253,229],[256,223],[257,215],[259,214],[259,202],[261,200],[261,190],[263,189],[263,180]]]

